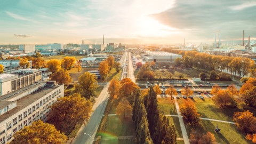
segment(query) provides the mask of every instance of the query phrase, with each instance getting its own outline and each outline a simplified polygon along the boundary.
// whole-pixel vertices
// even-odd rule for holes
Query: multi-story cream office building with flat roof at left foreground
[[[41,75],[41,71],[36,70],[28,74],[0,75],[1,89],[11,87],[13,90],[0,96],[1,144],[10,142],[13,134],[24,126],[31,125],[38,119],[45,121],[50,106],[63,97],[64,85],[57,85],[55,81],[40,81]]]

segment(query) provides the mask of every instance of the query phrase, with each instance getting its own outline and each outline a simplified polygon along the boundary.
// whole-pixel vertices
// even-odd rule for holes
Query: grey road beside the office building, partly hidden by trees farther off
[[[125,64],[126,56],[127,56],[127,52],[124,52],[120,60],[121,65]],[[87,122],[86,126],[82,126],[79,129],[77,136],[73,140],[74,144],[81,144],[81,143],[87,144],[87,143],[93,142],[94,137],[97,133],[98,127],[100,125],[102,115],[105,111],[105,107],[108,103],[108,98],[109,98],[108,85],[109,83],[106,83],[106,85],[103,87],[103,90],[101,91],[99,97],[97,98],[97,100],[95,101],[92,107],[93,113],[89,119],[89,122]],[[86,134],[84,135],[84,133]],[[90,140],[90,136],[87,134],[91,135],[91,138],[92,138],[91,140]]]

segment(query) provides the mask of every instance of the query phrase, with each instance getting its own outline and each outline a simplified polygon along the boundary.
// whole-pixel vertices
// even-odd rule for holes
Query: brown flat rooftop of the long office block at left
[[[20,99],[17,101],[17,107],[11,109],[7,113],[3,114],[0,116],[0,123],[3,122],[5,119],[11,117],[12,115],[18,113],[20,110],[26,108],[29,106],[31,103],[37,101],[38,99],[44,97],[47,93],[50,93],[51,91],[58,89],[60,85],[56,87],[44,87],[41,90],[38,90],[34,93],[31,93],[27,95],[26,97]]]

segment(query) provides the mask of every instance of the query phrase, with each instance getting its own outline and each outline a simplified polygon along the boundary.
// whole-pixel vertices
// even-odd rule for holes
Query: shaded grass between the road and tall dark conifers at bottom
[[[118,136],[135,135],[135,127],[132,122],[132,117],[121,119],[119,116],[108,116],[106,129],[102,133],[101,138],[111,138]],[[101,143],[134,143],[133,140],[102,140]]]

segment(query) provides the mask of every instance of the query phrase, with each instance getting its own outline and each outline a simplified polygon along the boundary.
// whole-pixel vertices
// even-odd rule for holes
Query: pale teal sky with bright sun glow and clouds
[[[0,0],[0,44],[256,39],[256,0]]]

